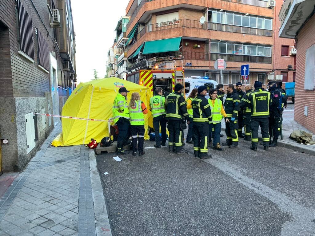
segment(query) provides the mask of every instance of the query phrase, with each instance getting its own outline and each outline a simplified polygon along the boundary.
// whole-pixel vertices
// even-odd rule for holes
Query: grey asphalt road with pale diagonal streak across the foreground
[[[120,162],[97,155],[113,235],[314,236],[315,157],[249,147],[209,149],[207,160],[193,156],[192,144],[188,155],[167,147]]]

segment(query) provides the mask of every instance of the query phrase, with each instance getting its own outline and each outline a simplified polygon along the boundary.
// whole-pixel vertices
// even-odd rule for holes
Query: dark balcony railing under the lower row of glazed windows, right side
[[[210,53],[211,61],[215,61],[217,59],[224,59],[225,61],[234,61],[234,62],[254,62],[254,63],[268,63],[268,64],[270,64],[272,61],[271,57],[250,56],[250,55],[240,55],[240,54]]]

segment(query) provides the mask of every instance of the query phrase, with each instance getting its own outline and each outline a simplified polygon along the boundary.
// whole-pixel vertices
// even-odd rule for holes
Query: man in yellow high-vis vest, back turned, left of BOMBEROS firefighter
[[[157,88],[155,96],[150,98],[150,110],[153,117],[153,128],[155,133],[155,148],[166,146],[166,120],[165,120],[165,97],[162,97],[163,89]],[[162,140],[160,139],[160,126]],[[161,142],[162,141],[162,142]]]

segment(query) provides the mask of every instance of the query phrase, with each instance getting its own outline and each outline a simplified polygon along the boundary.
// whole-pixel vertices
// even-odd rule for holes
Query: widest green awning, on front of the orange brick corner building
[[[181,37],[148,41],[142,54],[165,53],[179,51]]]

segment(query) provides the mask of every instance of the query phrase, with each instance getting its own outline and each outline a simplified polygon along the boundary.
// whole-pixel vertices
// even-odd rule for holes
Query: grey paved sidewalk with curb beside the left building
[[[58,124],[0,199],[1,236],[111,236],[94,152],[51,147],[60,131]]]

